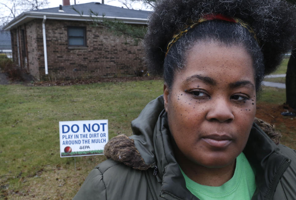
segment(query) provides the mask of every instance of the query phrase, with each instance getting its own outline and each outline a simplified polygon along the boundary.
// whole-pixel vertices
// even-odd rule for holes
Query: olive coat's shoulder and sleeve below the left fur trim
[[[108,159],[92,169],[73,200],[158,199],[161,183],[153,172]]]

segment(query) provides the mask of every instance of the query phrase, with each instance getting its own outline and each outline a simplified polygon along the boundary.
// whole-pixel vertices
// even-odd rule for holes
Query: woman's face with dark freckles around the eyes
[[[186,60],[171,89],[164,86],[177,150],[197,165],[230,165],[244,149],[255,117],[252,58],[239,46],[198,43]]]

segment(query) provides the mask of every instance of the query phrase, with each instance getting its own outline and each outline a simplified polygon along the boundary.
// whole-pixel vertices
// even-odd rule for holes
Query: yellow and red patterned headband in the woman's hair
[[[189,31],[191,28],[195,27],[196,25],[198,25],[201,22],[205,22],[208,20],[214,20],[214,19],[218,19],[218,20],[224,20],[224,21],[228,21],[228,22],[234,22],[234,23],[238,23],[240,24],[242,27],[245,27],[246,29],[248,29],[248,31],[251,33],[251,35],[253,36],[253,38],[256,39],[256,41],[259,43],[255,31],[253,30],[252,27],[250,27],[247,23],[245,23],[244,21],[242,21],[239,18],[232,18],[232,17],[226,17],[222,14],[207,14],[204,15],[202,18],[200,18],[197,22],[194,22],[188,26],[186,26],[185,28],[183,28],[181,31],[179,31],[179,33],[173,35],[173,38],[171,39],[171,41],[168,43],[167,45],[167,52],[166,52],[166,56],[167,53],[169,52],[171,46],[178,41],[178,39],[184,35],[187,31]]]

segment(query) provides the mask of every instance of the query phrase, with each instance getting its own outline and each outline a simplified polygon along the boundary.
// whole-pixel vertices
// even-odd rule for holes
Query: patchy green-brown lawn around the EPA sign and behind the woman
[[[105,157],[61,158],[59,121],[108,119],[109,138],[131,135],[130,122],[162,86],[162,80],[0,85],[0,199],[72,199]],[[285,98],[284,89],[263,87],[258,101],[282,104]]]

